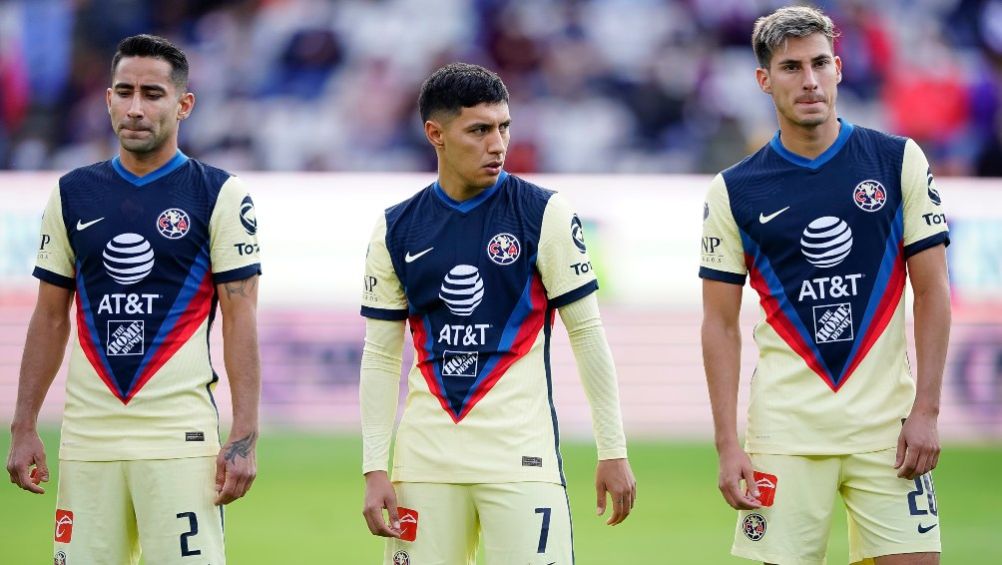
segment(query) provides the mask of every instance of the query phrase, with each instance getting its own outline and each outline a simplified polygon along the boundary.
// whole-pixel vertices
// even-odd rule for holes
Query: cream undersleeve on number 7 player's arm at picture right
[[[622,459],[626,457],[626,435],[619,408],[619,385],[598,301],[595,295],[588,295],[559,312],[591,407],[598,459]]]

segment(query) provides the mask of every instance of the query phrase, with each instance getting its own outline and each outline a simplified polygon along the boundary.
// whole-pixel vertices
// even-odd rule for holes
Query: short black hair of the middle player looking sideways
[[[421,85],[418,110],[422,121],[428,121],[435,113],[457,114],[485,102],[508,102],[508,89],[501,77],[480,65],[449,63]]]

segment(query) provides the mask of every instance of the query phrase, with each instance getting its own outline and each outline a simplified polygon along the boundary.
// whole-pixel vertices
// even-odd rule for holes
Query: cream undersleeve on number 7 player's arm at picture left
[[[403,350],[404,323],[366,321],[359,379],[363,474],[389,469]]]

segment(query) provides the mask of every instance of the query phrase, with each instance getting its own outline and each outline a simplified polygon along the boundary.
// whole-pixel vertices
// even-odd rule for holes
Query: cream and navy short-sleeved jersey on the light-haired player
[[[703,209],[703,278],[760,297],[746,449],[849,454],[894,447],[915,397],[905,260],[948,244],[912,140],[843,121],[816,159],[771,143],[717,175]]]

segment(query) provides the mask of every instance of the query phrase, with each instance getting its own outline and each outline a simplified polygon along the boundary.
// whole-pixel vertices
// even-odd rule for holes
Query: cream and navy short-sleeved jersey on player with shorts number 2
[[[116,157],[59,179],[34,275],[75,291],[60,457],[214,455],[215,285],[261,272],[243,183],[183,153],[141,177]]]

